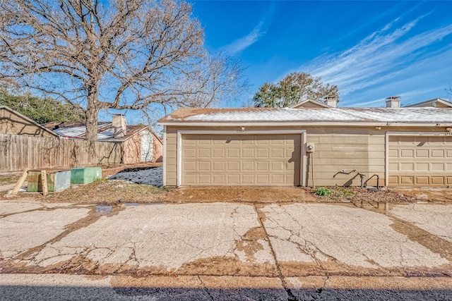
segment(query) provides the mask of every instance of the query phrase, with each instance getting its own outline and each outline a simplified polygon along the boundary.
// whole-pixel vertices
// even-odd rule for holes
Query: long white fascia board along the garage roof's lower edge
[[[164,121],[159,122],[160,125],[173,125],[173,126],[434,126],[444,127],[452,126],[451,123],[407,123],[407,122],[362,122],[362,121],[224,121],[224,122],[210,122],[210,121],[194,121],[194,122],[181,122],[181,121]]]

